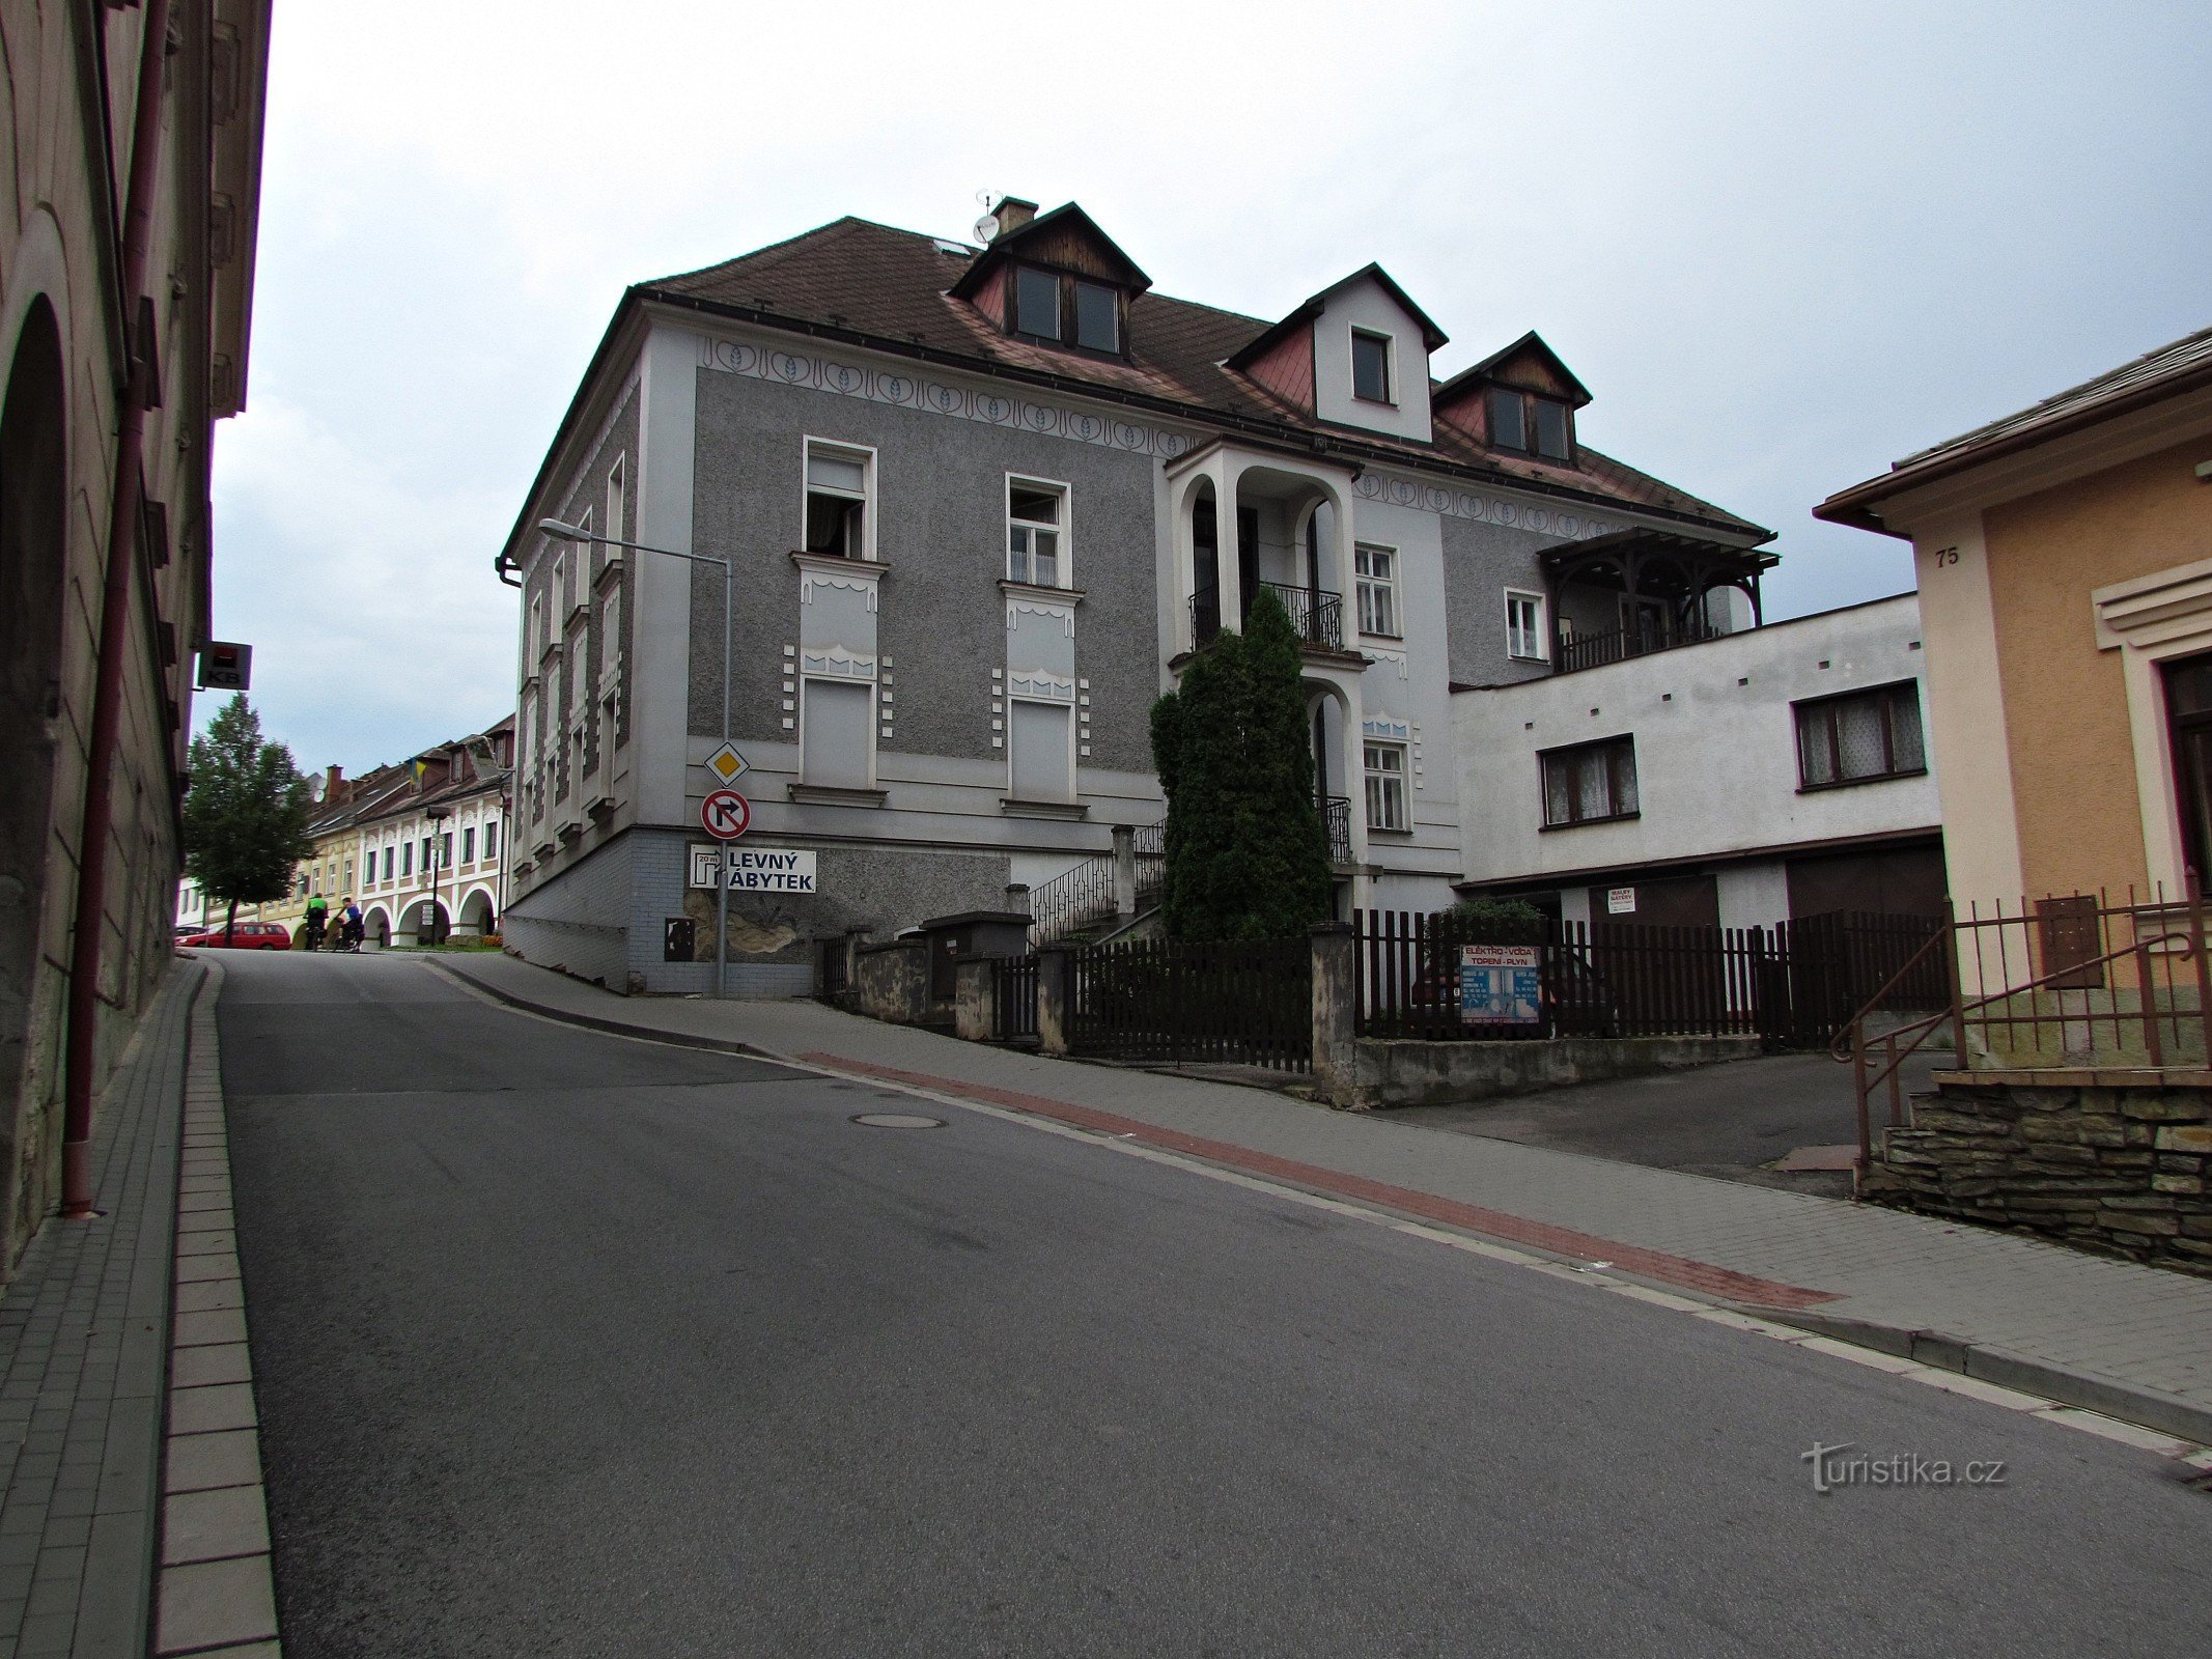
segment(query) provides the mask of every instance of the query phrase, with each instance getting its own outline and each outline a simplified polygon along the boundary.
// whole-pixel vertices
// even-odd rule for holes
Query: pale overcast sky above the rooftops
[[[978,190],[1265,319],[1376,259],[1438,374],[1535,327],[1593,447],[1778,531],[1770,615],[1898,593],[1809,509],[2212,323],[2208,108],[2201,0],[283,0],[215,630],[303,768],[489,726],[624,285]]]

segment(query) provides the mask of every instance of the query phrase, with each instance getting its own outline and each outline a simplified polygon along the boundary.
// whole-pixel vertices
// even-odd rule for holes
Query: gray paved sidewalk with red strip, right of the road
[[[1765,1307],[2192,1440],[2212,1440],[2212,1281],[1874,1206],[1332,1113],[814,1002],[617,998],[509,956],[440,969],[562,1020],[878,1075],[1208,1157]],[[1918,1343],[1913,1340],[1918,1334]]]

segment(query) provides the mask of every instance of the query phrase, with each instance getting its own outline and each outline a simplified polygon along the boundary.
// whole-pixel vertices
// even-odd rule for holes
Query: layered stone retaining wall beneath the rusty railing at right
[[[2212,1077],[1938,1073],[1863,1197],[2212,1276]]]

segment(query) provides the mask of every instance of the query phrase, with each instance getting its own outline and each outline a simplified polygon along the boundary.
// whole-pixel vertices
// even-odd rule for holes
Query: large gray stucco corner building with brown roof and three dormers
[[[1442,332],[1376,265],[1265,323],[1152,294],[1073,204],[991,228],[838,219],[624,296],[500,553],[511,949],[712,984],[688,847],[726,719],[743,845],[818,865],[732,894],[734,991],[1044,889],[1164,816],[1152,699],[1263,584],[1307,644],[1338,902],[1431,909],[1455,688],[1756,606],[1767,531],[1582,447],[1533,334],[1436,383]],[[721,568],[650,549],[728,560],[728,672]]]

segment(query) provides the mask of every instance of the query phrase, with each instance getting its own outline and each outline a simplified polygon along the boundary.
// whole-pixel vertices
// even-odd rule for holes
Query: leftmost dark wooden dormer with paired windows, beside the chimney
[[[951,285],[1002,332],[1031,345],[1128,358],[1128,307],[1152,279],[1073,201],[1040,215],[1006,197],[989,243]]]

